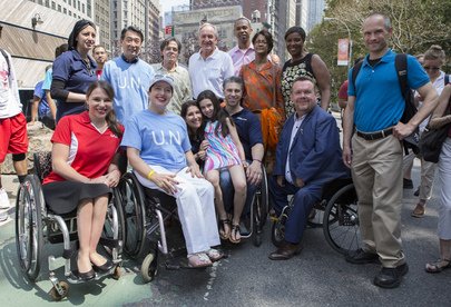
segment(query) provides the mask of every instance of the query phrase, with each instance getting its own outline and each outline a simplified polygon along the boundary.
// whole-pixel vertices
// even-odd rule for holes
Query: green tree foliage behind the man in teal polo
[[[362,22],[372,12],[390,17],[393,36],[391,47],[396,52],[423,53],[431,44],[440,44],[451,56],[451,0],[329,0],[326,17],[307,38],[306,47],[318,53],[331,70],[333,95],[346,78],[346,67],[336,66],[337,39],[347,38],[343,22],[353,40],[353,59],[366,53],[362,39]],[[450,70],[450,66],[445,67]]]

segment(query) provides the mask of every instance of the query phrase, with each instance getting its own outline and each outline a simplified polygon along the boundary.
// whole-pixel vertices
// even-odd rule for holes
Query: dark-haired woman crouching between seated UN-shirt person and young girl
[[[180,117],[185,119],[188,128],[189,142],[192,151],[200,168],[204,166],[205,150],[208,142],[204,138],[203,117],[199,107],[195,100],[188,100],[182,105]]]

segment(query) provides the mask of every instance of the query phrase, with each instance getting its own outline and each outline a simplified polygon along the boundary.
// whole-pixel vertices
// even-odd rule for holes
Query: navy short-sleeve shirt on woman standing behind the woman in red
[[[89,58],[89,67],[76,50],[62,52],[53,62],[53,80],[65,82],[65,90],[76,93],[86,93],[89,86],[97,81],[96,61]],[[66,102],[58,98],[58,118],[66,115],[80,113],[85,110],[85,102]]]

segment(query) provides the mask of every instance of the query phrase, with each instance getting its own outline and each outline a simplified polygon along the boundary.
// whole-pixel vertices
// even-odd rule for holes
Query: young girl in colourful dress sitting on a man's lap
[[[243,145],[232,118],[227,111],[220,108],[219,100],[213,91],[204,90],[200,92],[197,96],[197,103],[207,120],[204,131],[209,146],[206,150],[204,175],[215,188],[215,205],[220,222],[219,235],[222,239],[229,239],[231,242],[237,244],[241,241],[239,220],[246,201],[247,189],[244,172],[247,162]],[[223,192],[219,186],[219,170],[223,168],[228,169],[235,188],[232,228],[224,208]]]

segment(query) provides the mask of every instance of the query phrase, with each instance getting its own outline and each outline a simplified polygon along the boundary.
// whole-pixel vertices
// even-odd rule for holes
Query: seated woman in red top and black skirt
[[[117,150],[124,128],[112,111],[114,90],[95,81],[87,91],[87,111],[63,117],[51,139],[52,171],[43,179],[46,204],[55,214],[77,209],[80,248],[75,275],[95,278],[92,267],[107,271],[110,260],[97,254],[111,187],[119,182]]]

